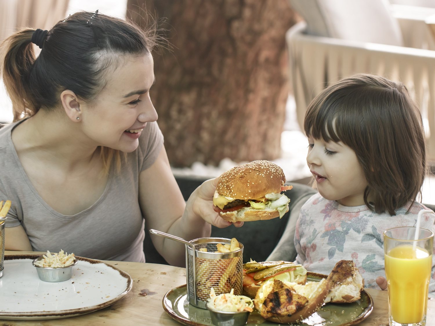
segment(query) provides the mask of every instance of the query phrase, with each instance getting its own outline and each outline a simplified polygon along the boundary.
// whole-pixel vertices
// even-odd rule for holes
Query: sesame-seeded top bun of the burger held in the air
[[[280,193],[284,183],[285,176],[281,167],[261,160],[235,166],[223,173],[216,191],[234,199],[256,199],[267,193]]]

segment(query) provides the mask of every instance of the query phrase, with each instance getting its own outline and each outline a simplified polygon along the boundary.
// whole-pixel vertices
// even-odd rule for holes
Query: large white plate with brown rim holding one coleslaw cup
[[[32,266],[39,256],[5,256],[0,319],[55,319],[90,313],[123,298],[133,285],[124,271],[83,257],[77,257],[71,279],[43,282]]]

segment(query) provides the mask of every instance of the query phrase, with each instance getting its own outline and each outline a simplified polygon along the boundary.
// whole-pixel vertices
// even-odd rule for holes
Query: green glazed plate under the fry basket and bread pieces
[[[327,275],[308,272],[308,281],[319,281]],[[211,323],[210,313],[207,309],[199,309],[192,306],[187,301],[186,285],[178,286],[168,291],[163,298],[163,308],[165,311],[184,325],[209,325]],[[327,303],[317,312],[313,313],[302,323],[291,325],[310,325],[310,326],[347,326],[360,323],[370,315],[373,310],[373,299],[364,290],[361,292],[361,299],[353,303]],[[249,315],[247,325],[277,326],[277,323],[266,321],[254,310]]]

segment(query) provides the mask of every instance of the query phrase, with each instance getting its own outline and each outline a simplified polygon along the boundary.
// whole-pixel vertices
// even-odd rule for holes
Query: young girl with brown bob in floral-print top
[[[296,260],[324,274],[340,259],[353,260],[365,286],[378,288],[376,278],[385,276],[383,232],[414,226],[418,211],[427,209],[415,201],[426,169],[418,108],[403,84],[355,75],[310,103],[304,129],[319,193],[301,208]],[[423,214],[421,227],[434,230],[434,220],[434,213]],[[433,272],[432,264],[429,292]]]

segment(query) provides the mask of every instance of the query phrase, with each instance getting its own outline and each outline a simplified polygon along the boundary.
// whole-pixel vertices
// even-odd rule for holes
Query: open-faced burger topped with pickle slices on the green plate
[[[305,284],[307,270],[302,265],[283,260],[259,263],[251,260],[249,263],[243,264],[243,294],[245,296],[255,298],[263,283],[274,279]]]

